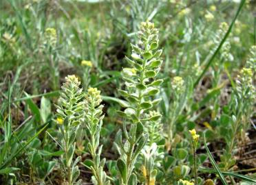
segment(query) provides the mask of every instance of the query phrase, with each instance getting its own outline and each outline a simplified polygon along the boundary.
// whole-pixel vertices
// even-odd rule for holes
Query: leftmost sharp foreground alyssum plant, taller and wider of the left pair
[[[84,112],[83,89],[79,88],[81,82],[74,75],[68,75],[66,82],[61,87],[61,96],[56,106],[56,123],[59,128],[59,145],[64,151],[61,162],[64,166],[65,177],[71,184],[80,184],[76,182],[79,176],[79,169],[76,165],[81,157],[73,161],[75,151],[75,139],[78,125],[81,124]]]

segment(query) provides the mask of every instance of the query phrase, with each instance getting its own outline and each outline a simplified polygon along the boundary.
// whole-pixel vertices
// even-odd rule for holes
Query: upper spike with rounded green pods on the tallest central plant
[[[156,106],[161,99],[151,99],[159,92],[162,79],[155,79],[160,71],[162,49],[158,49],[158,29],[153,23],[142,23],[138,32],[138,45],[131,45],[131,58],[127,62],[131,68],[122,71],[126,90],[119,90],[120,95],[129,102],[125,116],[132,123],[145,123],[154,118],[145,118],[145,113]]]

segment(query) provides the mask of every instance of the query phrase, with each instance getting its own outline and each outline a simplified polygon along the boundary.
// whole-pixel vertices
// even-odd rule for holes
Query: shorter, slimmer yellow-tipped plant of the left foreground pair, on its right
[[[89,88],[87,95],[85,95],[85,130],[88,140],[88,149],[92,160],[87,160],[85,164],[92,170],[92,182],[95,185],[110,184],[110,182],[107,181],[105,171],[103,171],[106,160],[105,158],[100,160],[103,145],[100,145],[98,148],[100,130],[103,125],[102,120],[104,117],[103,105],[100,105],[101,101],[103,100],[100,96],[100,90],[97,90],[97,88]]]

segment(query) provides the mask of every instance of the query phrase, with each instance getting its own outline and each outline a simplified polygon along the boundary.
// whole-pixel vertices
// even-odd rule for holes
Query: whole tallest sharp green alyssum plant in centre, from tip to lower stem
[[[143,125],[147,121],[157,121],[161,116],[146,116],[160,102],[160,99],[152,98],[159,92],[158,88],[162,84],[162,79],[154,79],[162,64],[162,49],[158,49],[158,29],[149,21],[141,23],[138,38],[138,45],[131,45],[131,58],[126,58],[131,68],[122,71],[126,90],[119,90],[120,95],[128,101],[125,111],[120,112],[120,115],[131,123],[129,132],[126,122],[123,123],[125,144],[122,143],[122,132],[116,134],[116,148],[120,153],[117,166],[121,184],[137,184],[137,177],[133,173],[134,164],[148,140]]]

